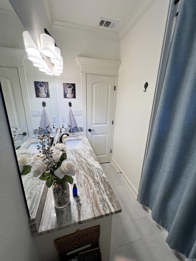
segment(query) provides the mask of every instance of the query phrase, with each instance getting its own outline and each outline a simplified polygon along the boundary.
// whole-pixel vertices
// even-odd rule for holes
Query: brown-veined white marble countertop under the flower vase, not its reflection
[[[52,188],[49,188],[39,230],[32,232],[34,237],[121,212],[96,155],[85,133],[82,133],[63,139],[63,143],[66,140],[81,139],[84,145],[82,149],[67,150],[67,158],[74,159],[79,169],[79,174],[73,177],[78,196],[73,197],[73,185],[70,184],[70,204],[65,208],[56,209]]]

